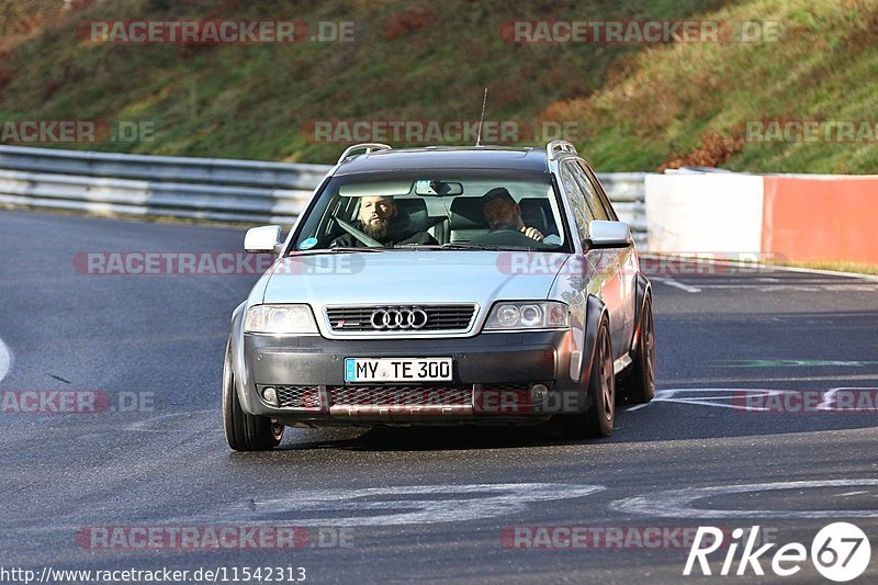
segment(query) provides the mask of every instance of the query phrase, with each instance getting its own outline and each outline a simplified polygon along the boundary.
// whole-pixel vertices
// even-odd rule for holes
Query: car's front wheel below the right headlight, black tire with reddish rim
[[[594,439],[612,435],[616,421],[616,374],[612,370],[612,342],[607,319],[601,319],[588,376],[588,410],[567,415],[563,431],[574,439]]]

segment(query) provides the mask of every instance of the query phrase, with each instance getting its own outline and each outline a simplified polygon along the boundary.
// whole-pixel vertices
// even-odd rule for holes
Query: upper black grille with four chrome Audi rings
[[[418,310],[426,314],[426,319],[418,314],[409,322],[409,312]],[[375,312],[379,312],[378,315]],[[402,312],[398,323],[396,322],[396,312]],[[386,313],[390,313],[390,326],[385,327],[382,324]],[[326,318],[334,333],[465,331],[472,325],[474,316],[475,305],[372,305],[326,308]],[[423,325],[421,320],[424,320]],[[379,326],[375,327],[373,322]]]

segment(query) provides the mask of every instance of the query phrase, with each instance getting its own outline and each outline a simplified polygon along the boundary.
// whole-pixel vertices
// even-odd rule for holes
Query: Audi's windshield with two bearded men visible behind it
[[[569,251],[545,172],[429,170],[334,177],[290,252],[339,248]]]

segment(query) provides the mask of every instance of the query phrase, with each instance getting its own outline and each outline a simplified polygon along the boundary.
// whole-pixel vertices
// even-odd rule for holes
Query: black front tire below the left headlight
[[[228,446],[236,451],[271,451],[283,438],[283,425],[266,416],[247,414],[241,408],[228,345],[223,363],[223,427]]]

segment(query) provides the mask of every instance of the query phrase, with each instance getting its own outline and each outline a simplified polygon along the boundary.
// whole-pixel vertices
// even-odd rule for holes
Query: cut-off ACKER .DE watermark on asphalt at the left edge
[[[0,398],[0,412],[4,415],[91,415],[155,410],[154,392],[7,390]]]

